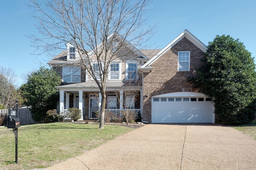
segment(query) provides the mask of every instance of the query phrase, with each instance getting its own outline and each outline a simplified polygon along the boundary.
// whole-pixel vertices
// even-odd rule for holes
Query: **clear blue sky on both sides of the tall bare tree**
[[[2,1],[0,6],[0,66],[13,68],[18,86],[25,83],[24,75],[46,66],[46,55],[32,55],[35,51],[26,35],[38,34],[32,9],[27,0]],[[255,0],[154,0],[145,25],[156,25],[156,33],[147,45],[161,49],[188,29],[205,45],[216,35],[230,35],[240,39],[256,57],[256,1]],[[254,59],[255,61],[255,59]]]

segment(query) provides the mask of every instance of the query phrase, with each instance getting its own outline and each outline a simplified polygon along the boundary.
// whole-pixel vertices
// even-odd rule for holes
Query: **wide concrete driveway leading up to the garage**
[[[252,170],[256,141],[215,124],[149,124],[47,170]]]

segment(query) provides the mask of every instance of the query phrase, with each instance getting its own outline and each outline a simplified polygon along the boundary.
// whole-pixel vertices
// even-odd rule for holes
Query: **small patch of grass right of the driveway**
[[[250,124],[237,125],[233,128],[237,129],[238,131],[242,131],[244,134],[256,140],[256,121],[252,121]]]

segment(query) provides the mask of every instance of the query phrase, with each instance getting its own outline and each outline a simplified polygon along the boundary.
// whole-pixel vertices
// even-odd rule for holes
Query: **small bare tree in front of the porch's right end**
[[[130,117],[136,115],[136,113],[132,110],[135,109],[135,102],[138,100],[138,96],[140,96],[140,90],[136,90],[136,87],[141,86],[140,81],[127,81],[124,82],[124,86],[126,87],[123,92],[123,100],[120,100],[119,91],[116,91],[117,100],[121,103],[123,102],[122,116],[126,119],[126,124],[129,124]]]

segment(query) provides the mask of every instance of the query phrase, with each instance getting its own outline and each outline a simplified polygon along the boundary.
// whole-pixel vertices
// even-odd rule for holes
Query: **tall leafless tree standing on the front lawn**
[[[103,129],[110,63],[129,56],[132,50],[141,49],[152,36],[154,27],[143,25],[147,19],[143,14],[150,0],[30,2],[36,11],[34,17],[39,21],[37,28],[42,34],[42,37],[30,36],[38,49],[56,52],[66,43],[77,47],[79,66],[88,71],[102,94],[100,129]]]

